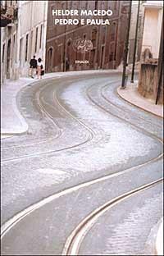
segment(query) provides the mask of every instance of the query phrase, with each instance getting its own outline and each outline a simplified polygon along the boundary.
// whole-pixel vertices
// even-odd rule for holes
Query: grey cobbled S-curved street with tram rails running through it
[[[162,178],[162,119],[119,98],[120,82],[116,74],[79,75],[34,83],[18,94],[30,129],[2,140],[3,255],[60,255],[93,210]],[[153,254],[147,240],[162,217],[162,185],[139,193],[98,218],[80,254]],[[143,239],[133,236],[132,246],[137,223]],[[122,227],[128,239],[120,251]]]

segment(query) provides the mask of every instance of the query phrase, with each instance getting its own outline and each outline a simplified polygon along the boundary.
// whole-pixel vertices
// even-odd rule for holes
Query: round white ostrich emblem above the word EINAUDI
[[[72,47],[77,53],[87,53],[93,49],[93,43],[91,40],[75,39],[72,43]]]

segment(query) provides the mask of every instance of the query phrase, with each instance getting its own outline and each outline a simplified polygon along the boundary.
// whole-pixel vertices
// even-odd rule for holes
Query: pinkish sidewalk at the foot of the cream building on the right
[[[153,100],[144,98],[139,94],[137,90],[137,81],[134,84],[129,84],[125,89],[119,87],[117,93],[127,102],[144,109],[147,112],[151,112],[157,117],[163,117],[163,105],[155,105]]]

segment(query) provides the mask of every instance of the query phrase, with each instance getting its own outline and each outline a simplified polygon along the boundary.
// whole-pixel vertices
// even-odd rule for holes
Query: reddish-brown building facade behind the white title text
[[[113,69],[119,66],[124,51],[129,6],[129,1],[49,1],[46,71]],[[52,10],[82,9],[111,9],[112,16],[106,16],[110,25],[54,25],[57,16],[52,16]],[[77,16],[71,16],[73,18]],[[93,48],[88,53],[76,52],[73,48],[76,39],[91,40]],[[89,63],[76,64],[76,60],[87,60]]]

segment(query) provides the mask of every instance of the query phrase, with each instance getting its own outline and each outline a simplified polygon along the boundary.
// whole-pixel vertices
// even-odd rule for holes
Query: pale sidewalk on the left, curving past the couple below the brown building
[[[55,72],[43,75],[44,79],[83,75],[83,74],[102,74],[102,73],[118,73],[117,70],[105,71],[69,71],[69,72]],[[16,94],[26,85],[30,85],[39,81],[37,78],[21,77],[19,80],[7,80],[1,86],[1,139],[5,139],[12,135],[21,135],[27,132],[28,124],[24,117],[21,116],[18,108],[16,107]]]

